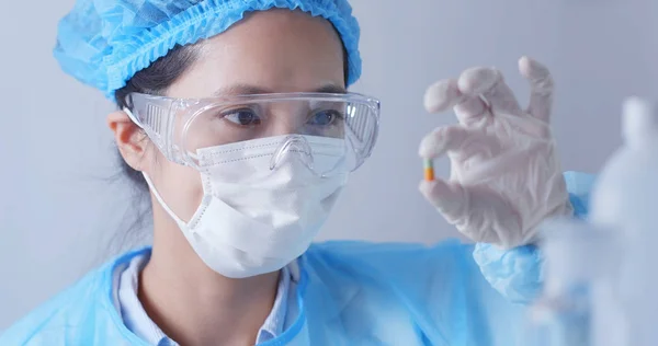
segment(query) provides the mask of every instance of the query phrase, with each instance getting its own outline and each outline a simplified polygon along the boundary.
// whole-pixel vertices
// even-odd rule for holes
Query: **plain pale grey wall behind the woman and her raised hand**
[[[0,11],[0,330],[115,252],[128,196],[99,92],[59,71],[56,24],[73,0],[5,1]],[[595,172],[620,143],[622,100],[658,96],[656,0],[353,0],[363,80],[383,102],[379,141],[321,239],[435,242],[457,237],[417,192],[417,147],[451,114],[423,112],[427,85],[474,65],[501,68],[522,102],[517,59],[557,81],[564,168]],[[440,166],[447,174],[447,162]],[[121,239],[118,239],[121,241]],[[117,244],[117,242],[113,242]],[[121,242],[120,242],[121,243]]]

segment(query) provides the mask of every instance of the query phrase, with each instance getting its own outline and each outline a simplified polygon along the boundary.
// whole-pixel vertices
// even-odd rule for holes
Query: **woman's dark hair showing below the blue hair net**
[[[120,109],[128,107],[128,101],[126,96],[133,92],[145,93],[151,95],[163,95],[167,90],[173,84],[197,59],[198,48],[196,45],[188,46],[175,46],[169,54],[148,68],[140,70],[128,80],[126,85],[114,93],[116,105]],[[344,66],[344,79],[348,81],[349,68],[348,68],[348,53],[343,46],[343,66]],[[146,138],[146,137],[145,137]],[[117,235],[123,237],[118,240],[117,250],[123,250],[128,245],[127,237],[133,233],[134,229],[140,229],[144,227],[144,222],[147,221],[148,216],[151,211],[150,201],[147,200],[148,184],[141,175],[141,172],[136,171],[129,166],[125,160],[118,155],[118,164],[121,166],[122,176],[127,177],[133,189],[133,206],[132,210],[136,214],[136,219],[128,227],[127,232],[120,232]]]

